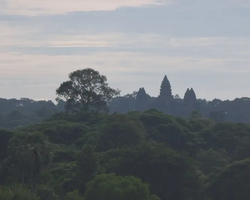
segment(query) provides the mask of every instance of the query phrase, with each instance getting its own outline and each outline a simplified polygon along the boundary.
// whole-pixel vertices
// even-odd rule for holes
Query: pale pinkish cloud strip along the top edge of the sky
[[[69,12],[111,11],[121,7],[176,5],[182,11],[202,8],[249,8],[250,3],[238,0],[1,0],[0,13],[7,15],[55,15]]]

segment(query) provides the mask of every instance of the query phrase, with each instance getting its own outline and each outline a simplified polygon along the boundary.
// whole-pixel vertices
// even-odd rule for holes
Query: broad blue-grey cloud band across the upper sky
[[[17,2],[17,4],[13,3],[17,6],[16,11],[23,12],[25,8],[26,15],[29,14],[28,7],[32,7],[38,2],[38,0],[8,0],[6,6],[0,6],[3,13],[0,15],[0,21],[11,24],[13,27],[22,26],[27,29],[39,29],[39,35],[43,36],[122,32],[124,34],[147,33],[170,37],[248,37],[250,29],[248,23],[249,7],[246,6],[246,2],[236,0],[173,0],[171,1],[174,2],[172,4],[165,3],[169,2],[168,0],[113,0],[114,4],[112,5],[132,5],[132,2],[139,5],[140,2],[144,2],[145,5],[151,3],[151,6],[118,6],[117,9],[84,12],[84,10],[79,11],[81,9],[81,3],[79,3],[79,5],[76,4],[78,5],[77,8],[74,8],[70,13],[56,14],[56,12],[51,11],[50,15],[32,17],[10,15],[9,7],[12,1]],[[62,0],[62,4],[66,2],[75,5],[75,1],[78,0],[73,0],[72,3]],[[56,0],[39,2],[41,6],[48,5],[52,10],[57,9],[57,6],[54,5],[57,2]],[[110,5],[108,2],[111,2],[111,0],[84,0],[80,2],[93,2],[93,5],[102,5],[103,2],[107,2],[107,5]],[[160,2],[163,5],[153,6],[153,2]],[[22,6],[22,4],[24,5]],[[84,6],[84,8],[87,7]],[[37,37],[37,34],[33,37]]]

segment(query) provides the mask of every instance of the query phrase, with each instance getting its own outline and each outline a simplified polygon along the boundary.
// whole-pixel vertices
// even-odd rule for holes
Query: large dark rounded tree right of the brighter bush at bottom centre
[[[147,142],[136,147],[113,149],[102,157],[106,173],[135,176],[149,183],[161,199],[191,200],[199,195],[199,178],[190,158],[163,144]],[[87,199],[86,199],[87,200]]]

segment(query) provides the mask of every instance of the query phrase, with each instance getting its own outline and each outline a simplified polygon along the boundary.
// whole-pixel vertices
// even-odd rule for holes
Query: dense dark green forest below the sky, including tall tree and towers
[[[173,98],[164,85],[166,77],[158,98],[143,88],[119,97],[105,76],[83,69],[56,90],[57,105],[2,99],[0,200],[249,199],[250,124],[202,116],[205,105],[232,103],[219,100],[174,116],[171,105],[184,109],[195,93]],[[122,107],[131,111],[110,112]]]

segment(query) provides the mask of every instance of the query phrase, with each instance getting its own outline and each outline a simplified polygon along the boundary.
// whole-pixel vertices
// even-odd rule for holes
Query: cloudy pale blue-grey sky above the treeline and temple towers
[[[56,98],[93,68],[125,95],[250,96],[250,0],[0,0],[0,98]]]

